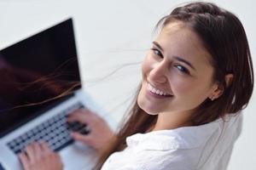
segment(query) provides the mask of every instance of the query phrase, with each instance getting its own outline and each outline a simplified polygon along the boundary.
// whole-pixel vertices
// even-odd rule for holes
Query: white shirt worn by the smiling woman
[[[224,170],[241,133],[241,113],[195,127],[179,127],[127,137],[102,170]]]

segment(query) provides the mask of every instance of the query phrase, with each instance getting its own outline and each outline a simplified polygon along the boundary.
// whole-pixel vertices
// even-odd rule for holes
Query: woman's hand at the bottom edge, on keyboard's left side
[[[33,142],[19,155],[25,170],[61,170],[61,156],[49,149],[48,144]]]

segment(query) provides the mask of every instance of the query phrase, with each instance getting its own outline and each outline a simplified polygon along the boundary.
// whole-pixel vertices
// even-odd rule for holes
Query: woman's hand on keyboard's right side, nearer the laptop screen
[[[90,128],[90,133],[83,135],[81,133],[72,132],[73,139],[88,144],[96,150],[102,149],[111,139],[115,138],[115,134],[102,117],[98,116],[87,109],[79,109],[73,111],[68,117],[67,122],[80,122],[86,124]]]

